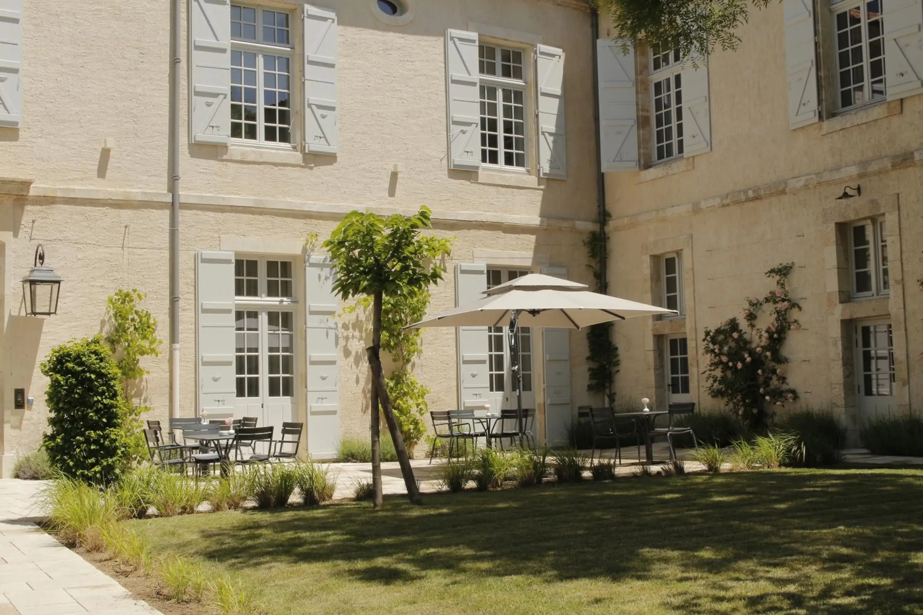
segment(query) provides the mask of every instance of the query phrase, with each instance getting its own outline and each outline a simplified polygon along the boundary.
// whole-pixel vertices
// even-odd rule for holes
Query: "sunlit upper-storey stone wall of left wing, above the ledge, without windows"
[[[270,4],[293,13],[302,6]],[[368,0],[320,4],[334,8],[339,18],[340,154],[295,155],[280,164],[261,162],[258,153],[239,148],[229,154],[227,148],[188,144],[184,56],[185,194],[344,207],[414,208],[425,203],[447,214],[594,219],[588,10],[574,8],[577,3],[560,6],[536,0],[508,0],[502,5],[489,0],[419,1],[410,23],[390,26],[375,17],[370,8],[374,3]],[[18,131],[0,129],[0,140],[7,141],[0,176],[28,177],[47,186],[166,189],[167,7],[129,0],[117,7],[80,3],[66,13],[50,14],[38,3],[26,4],[23,125]],[[295,25],[300,19],[292,23],[300,38],[300,25]],[[533,189],[510,190],[475,183],[477,173],[471,171],[447,171],[445,31],[475,29],[477,24],[506,31],[509,38],[540,40],[567,53],[567,182],[543,180],[534,182],[538,185]],[[183,49],[186,53],[186,38]],[[110,156],[102,153],[105,137],[115,139]],[[251,160],[216,160],[227,156]],[[405,169],[398,178],[391,176],[395,163]]]

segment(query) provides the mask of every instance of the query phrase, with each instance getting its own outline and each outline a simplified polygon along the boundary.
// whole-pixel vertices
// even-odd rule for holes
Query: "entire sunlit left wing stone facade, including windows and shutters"
[[[39,364],[54,345],[102,331],[107,296],[147,292],[168,337],[167,6],[49,12],[0,0],[6,474],[45,428]],[[588,278],[597,164],[586,3],[190,0],[182,35],[183,416],[302,421],[318,456],[367,432],[365,332],[331,318],[342,306],[308,241],[350,210],[432,209],[434,232],[454,240],[433,310],[455,304],[460,265],[481,285],[487,270]],[[477,139],[459,147],[482,115],[485,151]],[[19,283],[38,243],[65,280],[48,318],[25,315]],[[479,403],[460,393],[456,335],[424,335],[416,373],[434,409]],[[489,388],[478,335],[465,370],[477,390]],[[571,391],[584,401],[586,352],[577,334],[549,341],[573,378],[546,392],[543,341],[533,335],[544,436],[546,398],[568,416]],[[146,401],[163,420],[166,344],[147,367]],[[492,392],[500,403],[507,394]]]

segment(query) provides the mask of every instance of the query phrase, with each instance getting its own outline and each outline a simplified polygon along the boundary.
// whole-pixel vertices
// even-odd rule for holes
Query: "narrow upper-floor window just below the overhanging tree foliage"
[[[653,161],[683,155],[682,57],[677,50],[651,52]]]

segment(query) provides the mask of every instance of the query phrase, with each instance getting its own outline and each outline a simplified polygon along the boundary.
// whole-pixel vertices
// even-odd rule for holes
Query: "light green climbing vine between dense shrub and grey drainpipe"
[[[141,415],[150,410],[135,403],[143,392],[143,378],[149,373],[141,365],[141,360],[160,356],[162,344],[161,338],[157,337],[157,319],[140,306],[146,296],[138,289],[116,290],[106,301],[109,328],[105,341],[121,374],[126,398],[123,426],[131,454],[136,459],[147,455],[147,445],[141,433]]]

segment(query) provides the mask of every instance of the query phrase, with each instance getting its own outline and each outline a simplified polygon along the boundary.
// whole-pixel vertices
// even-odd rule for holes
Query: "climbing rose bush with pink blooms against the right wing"
[[[785,337],[799,326],[792,313],[801,306],[792,301],[787,285],[793,267],[789,263],[766,272],[775,288],[762,299],[747,299],[743,325],[735,317],[705,329],[708,394],[723,399],[752,430],[766,427],[775,406],[798,398],[785,377],[788,359],[782,353]]]

